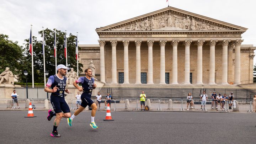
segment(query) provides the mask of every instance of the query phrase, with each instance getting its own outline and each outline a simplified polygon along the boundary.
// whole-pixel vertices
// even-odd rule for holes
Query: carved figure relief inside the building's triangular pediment
[[[119,25],[106,31],[155,31],[155,30],[229,30],[229,28],[199,21],[192,16],[181,16],[176,14],[162,14],[149,16],[140,21],[134,21],[130,25]]]

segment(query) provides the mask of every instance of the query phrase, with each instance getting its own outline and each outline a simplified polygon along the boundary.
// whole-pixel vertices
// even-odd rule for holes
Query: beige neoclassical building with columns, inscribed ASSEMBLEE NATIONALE
[[[246,30],[167,7],[97,28],[99,45],[79,45],[79,61],[111,84],[241,84],[256,49],[241,45]]]

